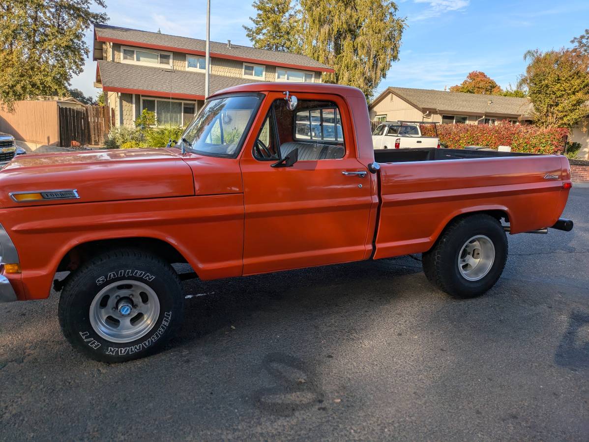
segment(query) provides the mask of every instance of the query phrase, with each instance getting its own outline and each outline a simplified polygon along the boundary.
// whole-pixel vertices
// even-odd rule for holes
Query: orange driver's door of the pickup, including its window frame
[[[269,94],[241,154],[244,274],[368,255],[373,190],[356,158],[346,103],[323,94],[297,98],[290,111],[281,93]],[[294,149],[292,167],[272,167]]]

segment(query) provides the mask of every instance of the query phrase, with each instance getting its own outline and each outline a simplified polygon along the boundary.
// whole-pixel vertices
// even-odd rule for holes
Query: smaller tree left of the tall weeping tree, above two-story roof
[[[300,52],[300,11],[291,0],[256,0],[253,26],[243,26],[254,48]]]

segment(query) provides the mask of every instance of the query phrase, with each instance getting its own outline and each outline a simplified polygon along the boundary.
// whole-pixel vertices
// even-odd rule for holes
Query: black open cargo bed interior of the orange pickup
[[[436,148],[407,148],[407,149],[375,149],[374,158],[379,163],[410,162],[410,161],[438,161],[442,159],[465,158],[501,158],[527,157],[535,154],[521,154],[518,152],[498,152],[468,149],[436,149]]]

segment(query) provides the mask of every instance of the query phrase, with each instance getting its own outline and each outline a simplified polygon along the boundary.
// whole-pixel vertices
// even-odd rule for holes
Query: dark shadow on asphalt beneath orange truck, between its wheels
[[[173,345],[228,330],[238,322],[247,324],[259,315],[270,314],[272,319],[280,320],[280,314],[292,315],[294,310],[316,313],[328,311],[336,304],[350,308],[363,298],[390,301],[396,293],[395,278],[422,271],[421,265],[412,260],[401,261],[410,265],[397,261],[354,262],[228,280],[188,281],[184,283],[184,325]],[[386,290],[382,287],[383,277],[391,282]]]

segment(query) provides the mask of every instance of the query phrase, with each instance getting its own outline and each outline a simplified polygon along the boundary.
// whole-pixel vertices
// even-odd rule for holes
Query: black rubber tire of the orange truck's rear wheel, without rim
[[[485,235],[495,247],[495,260],[488,273],[478,281],[469,281],[458,267],[458,254],[469,238]],[[505,231],[497,218],[487,214],[466,215],[451,222],[434,247],[422,255],[428,280],[457,298],[474,298],[486,293],[501,276],[507,261],[508,244]]]

